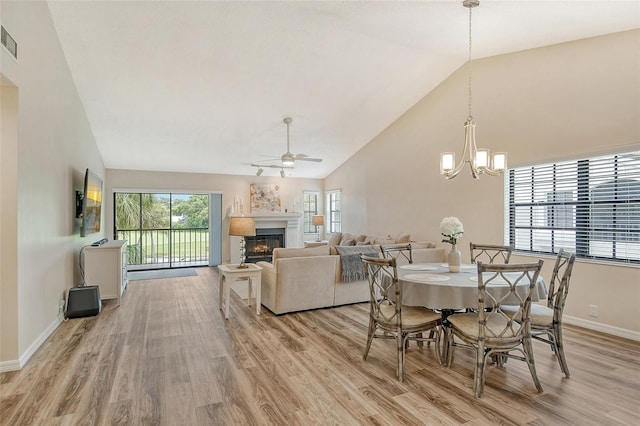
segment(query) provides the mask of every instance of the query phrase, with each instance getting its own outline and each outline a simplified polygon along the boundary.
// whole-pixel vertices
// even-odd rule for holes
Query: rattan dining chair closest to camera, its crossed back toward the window
[[[531,293],[540,275],[542,263],[542,260],[537,263],[513,265],[478,262],[478,310],[447,317],[447,366],[451,367],[453,363],[456,346],[475,350],[473,392],[476,398],[482,396],[487,362],[490,358],[515,358],[525,361],[536,389],[542,392],[533,358],[530,322]],[[491,285],[500,285],[503,288],[506,285],[508,292],[503,297],[495,298],[488,288]],[[517,303],[520,321],[503,311],[503,304],[507,302],[511,305]],[[456,342],[455,338],[460,342]],[[519,352],[522,356],[514,352]]]

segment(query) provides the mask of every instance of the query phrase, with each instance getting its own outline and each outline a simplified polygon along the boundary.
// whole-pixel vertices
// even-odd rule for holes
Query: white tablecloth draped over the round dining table
[[[402,303],[409,306],[426,306],[431,309],[466,309],[478,307],[478,272],[476,265],[462,265],[460,272],[451,273],[445,264],[421,263],[398,267],[398,278],[402,285]],[[523,283],[522,297],[526,296],[528,284]],[[488,291],[499,298],[508,293],[506,284],[488,286]],[[547,288],[542,276],[534,287],[531,300],[536,302],[547,297]],[[485,303],[488,302],[485,299]],[[517,300],[513,303],[518,303]]]

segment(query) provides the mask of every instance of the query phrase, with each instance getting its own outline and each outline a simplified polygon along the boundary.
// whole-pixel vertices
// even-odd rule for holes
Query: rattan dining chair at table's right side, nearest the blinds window
[[[573,264],[576,261],[575,253],[569,253],[560,249],[556,256],[556,263],[551,274],[547,305],[531,305],[531,337],[547,343],[556,354],[560,369],[566,377],[569,377],[569,367],[564,355],[562,343],[562,313],[564,304],[569,294],[569,281]],[[517,306],[505,306],[504,311],[516,316]]]

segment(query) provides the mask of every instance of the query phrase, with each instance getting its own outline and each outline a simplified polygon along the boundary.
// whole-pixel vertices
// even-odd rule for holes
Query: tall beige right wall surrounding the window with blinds
[[[640,149],[639,45],[634,30],[474,61],[479,147],[506,150],[510,166]],[[439,175],[440,152],[461,155],[467,77],[463,66],[327,177],[327,191],[343,192],[344,231],[439,242],[442,218],[457,216],[467,259],[470,241],[503,243],[503,179]],[[638,301],[640,268],[578,261],[565,312],[638,338]]]

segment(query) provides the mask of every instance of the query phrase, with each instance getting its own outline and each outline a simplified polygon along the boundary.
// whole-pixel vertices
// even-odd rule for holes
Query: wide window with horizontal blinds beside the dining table
[[[640,264],[640,152],[509,170],[516,250]]]

